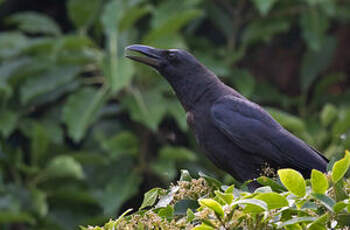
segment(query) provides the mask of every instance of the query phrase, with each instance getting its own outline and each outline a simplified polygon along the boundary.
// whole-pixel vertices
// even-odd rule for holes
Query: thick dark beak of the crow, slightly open
[[[143,54],[144,56],[136,56],[132,54],[128,54],[129,51],[138,52]],[[130,58],[134,61],[144,63],[146,65],[152,66],[153,68],[157,68],[160,66],[161,57],[160,50],[144,45],[130,45],[125,48],[125,57]]]

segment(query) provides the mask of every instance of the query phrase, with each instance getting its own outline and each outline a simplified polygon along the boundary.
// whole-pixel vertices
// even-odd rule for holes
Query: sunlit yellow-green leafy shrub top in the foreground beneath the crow
[[[153,188],[147,192],[144,203],[153,206],[151,209],[145,210],[146,206],[142,205],[139,211],[123,214],[104,227],[81,229],[343,229],[350,224],[350,180],[343,177],[349,165],[342,166],[349,157],[347,152],[327,175],[313,170],[307,183],[293,169],[278,170],[281,186],[285,186],[283,191],[264,186],[247,192],[234,185],[210,185],[202,177],[180,180],[167,190]],[[339,180],[334,180],[335,177]],[[323,180],[331,186],[328,188],[327,184],[325,189],[320,189]],[[289,186],[290,183],[302,184],[303,194],[295,194],[296,188]],[[345,196],[337,198],[336,190]],[[194,198],[194,194],[200,194],[199,198]],[[196,203],[189,202],[193,199]]]

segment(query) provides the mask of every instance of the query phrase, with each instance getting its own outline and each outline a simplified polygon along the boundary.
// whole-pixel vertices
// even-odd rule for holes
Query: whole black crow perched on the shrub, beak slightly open
[[[310,177],[312,169],[326,172],[327,158],[225,85],[189,52],[145,45],[125,50],[127,58],[153,67],[170,83],[203,152],[238,181],[259,177],[266,166],[293,168],[304,177]],[[259,184],[248,187],[254,191]]]

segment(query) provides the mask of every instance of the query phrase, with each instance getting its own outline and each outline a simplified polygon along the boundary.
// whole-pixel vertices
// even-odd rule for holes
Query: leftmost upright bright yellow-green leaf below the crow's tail
[[[294,169],[280,169],[277,171],[280,180],[286,188],[296,196],[306,194],[306,183],[303,176]]]

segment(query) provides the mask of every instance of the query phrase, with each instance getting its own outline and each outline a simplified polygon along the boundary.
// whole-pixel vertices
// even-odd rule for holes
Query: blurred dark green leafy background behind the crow
[[[101,224],[200,154],[167,82],[184,48],[328,158],[350,148],[348,0],[1,0],[0,228]]]

